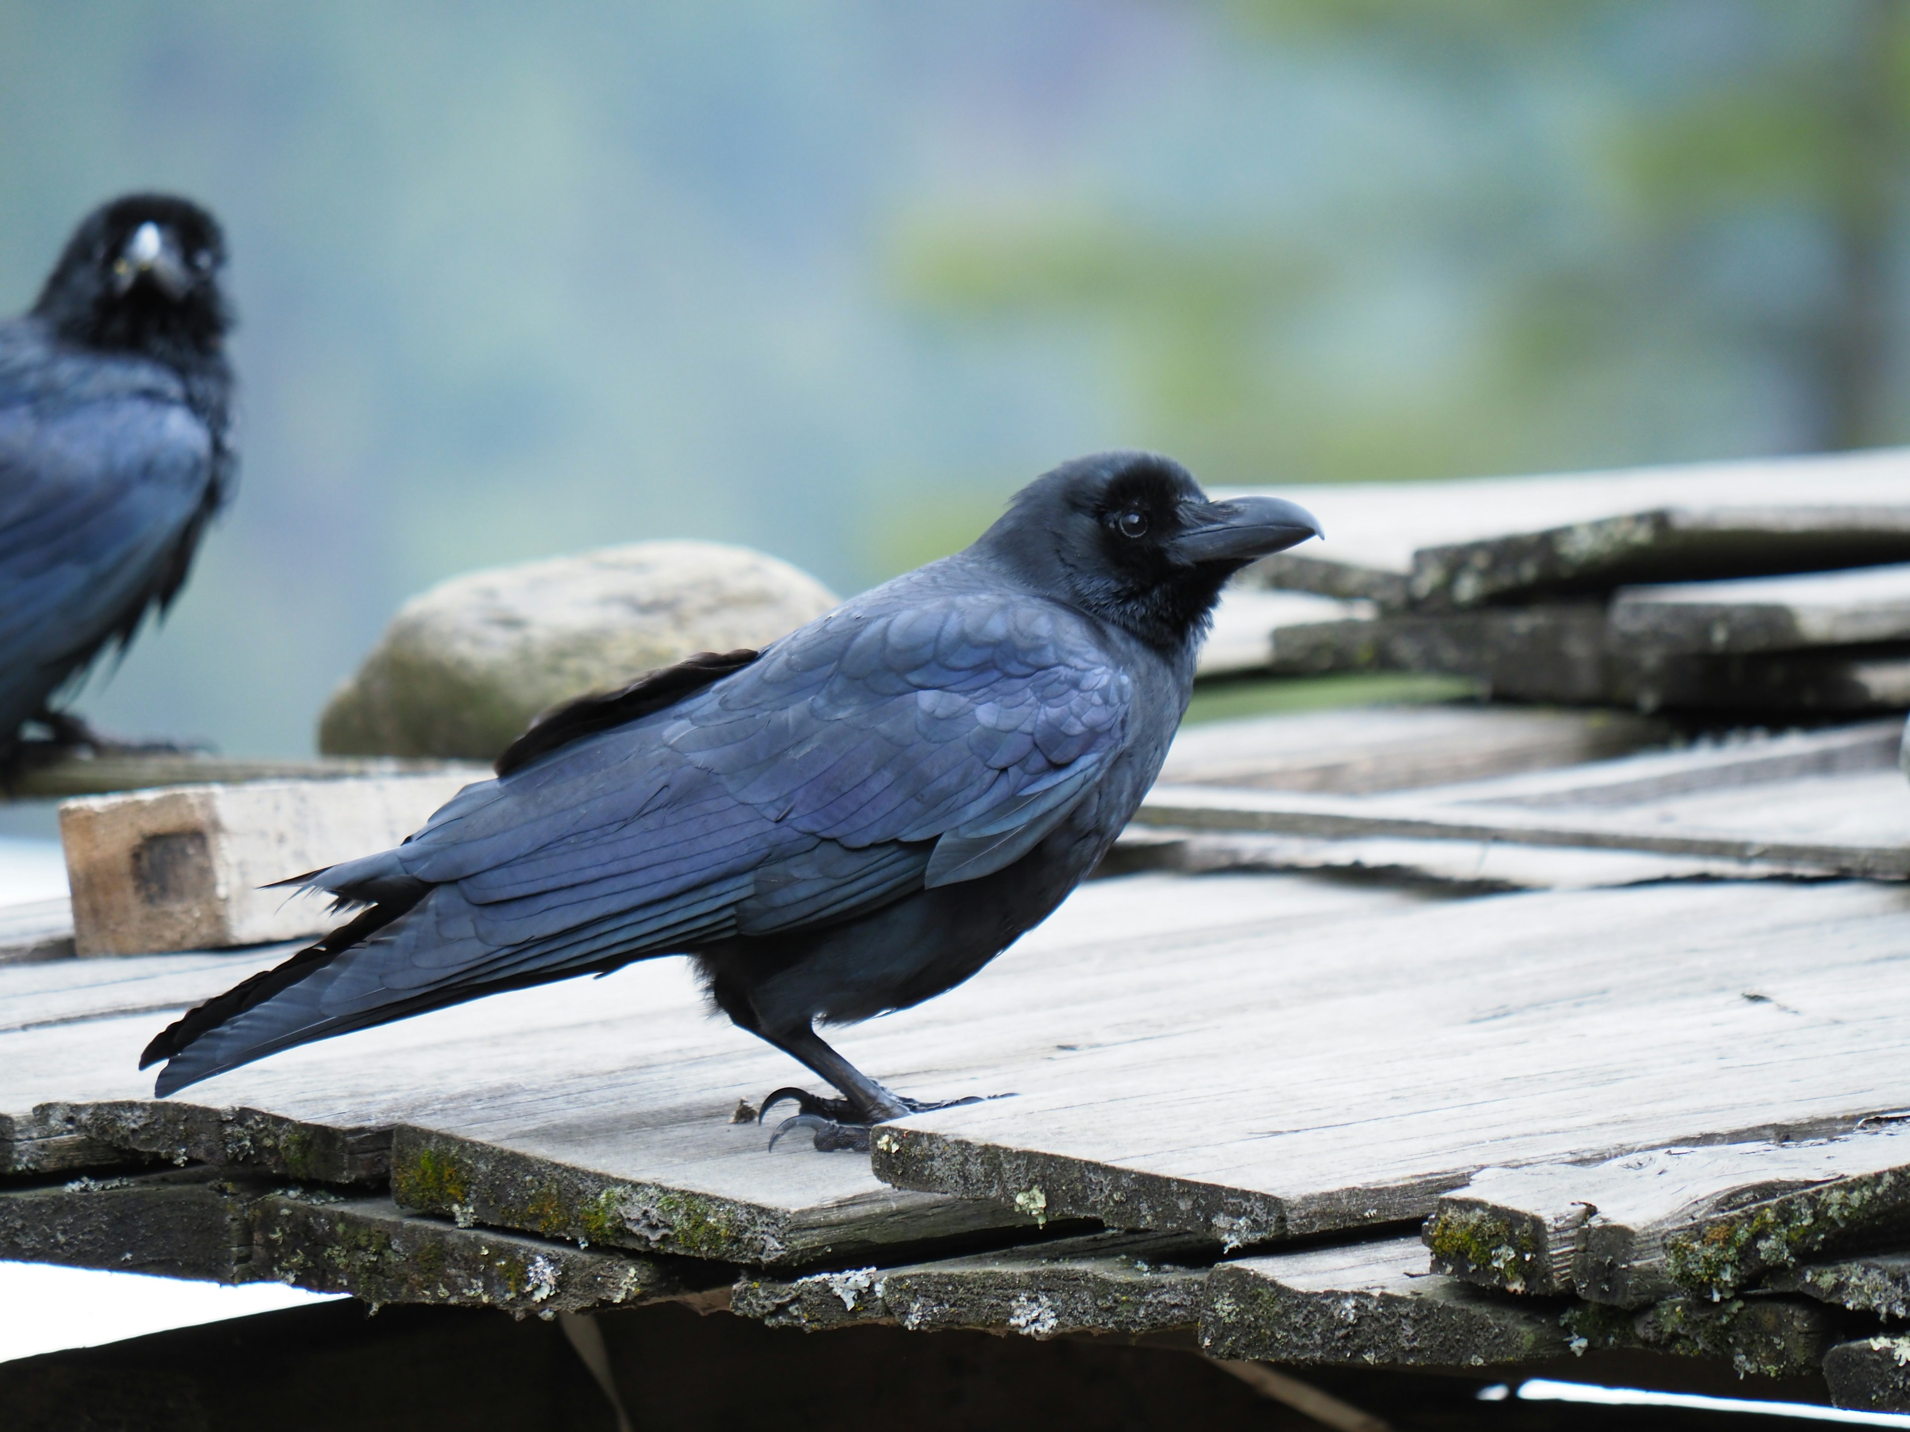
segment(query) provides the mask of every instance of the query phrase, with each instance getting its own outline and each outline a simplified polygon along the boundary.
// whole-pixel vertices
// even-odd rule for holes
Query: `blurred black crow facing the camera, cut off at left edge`
[[[178,596],[233,489],[220,225],[128,195],[0,323],[0,769],[21,726],[94,741],[52,697]]]

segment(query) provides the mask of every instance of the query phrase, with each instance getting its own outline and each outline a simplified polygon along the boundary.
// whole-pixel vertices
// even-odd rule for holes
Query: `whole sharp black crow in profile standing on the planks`
[[[1226,579],[1320,533],[1178,464],[1081,458],[966,552],[760,655],[535,724],[397,850],[285,884],[365,905],[160,1033],[160,1096],[292,1044],[691,955],[711,1000],[842,1094],[817,1148],[932,1107],[814,1029],[940,995],[1060,905],[1154,783]],[[787,1127],[787,1125],[785,1125]]]

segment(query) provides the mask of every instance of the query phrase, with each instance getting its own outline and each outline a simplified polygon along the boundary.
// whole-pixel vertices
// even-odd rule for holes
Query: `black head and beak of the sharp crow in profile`
[[[1228,577],[1308,537],[1320,523],[1293,502],[1209,502],[1171,458],[1098,453],[1016,493],[976,550],[1047,596],[1180,647],[1205,632]]]

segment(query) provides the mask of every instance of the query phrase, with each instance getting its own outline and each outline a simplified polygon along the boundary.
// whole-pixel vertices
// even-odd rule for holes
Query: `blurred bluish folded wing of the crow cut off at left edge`
[[[0,720],[126,640],[183,575],[212,489],[212,435],[162,393],[0,393]],[[189,556],[189,552],[185,554]],[[19,705],[29,710],[15,710]],[[11,726],[8,726],[11,729]]]

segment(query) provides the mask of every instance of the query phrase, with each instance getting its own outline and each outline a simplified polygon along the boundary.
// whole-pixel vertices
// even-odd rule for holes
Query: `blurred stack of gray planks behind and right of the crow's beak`
[[[1375,615],[1278,621],[1268,670],[1446,672],[1639,710],[1910,708],[1904,451],[1301,496],[1350,537],[1243,582]]]

